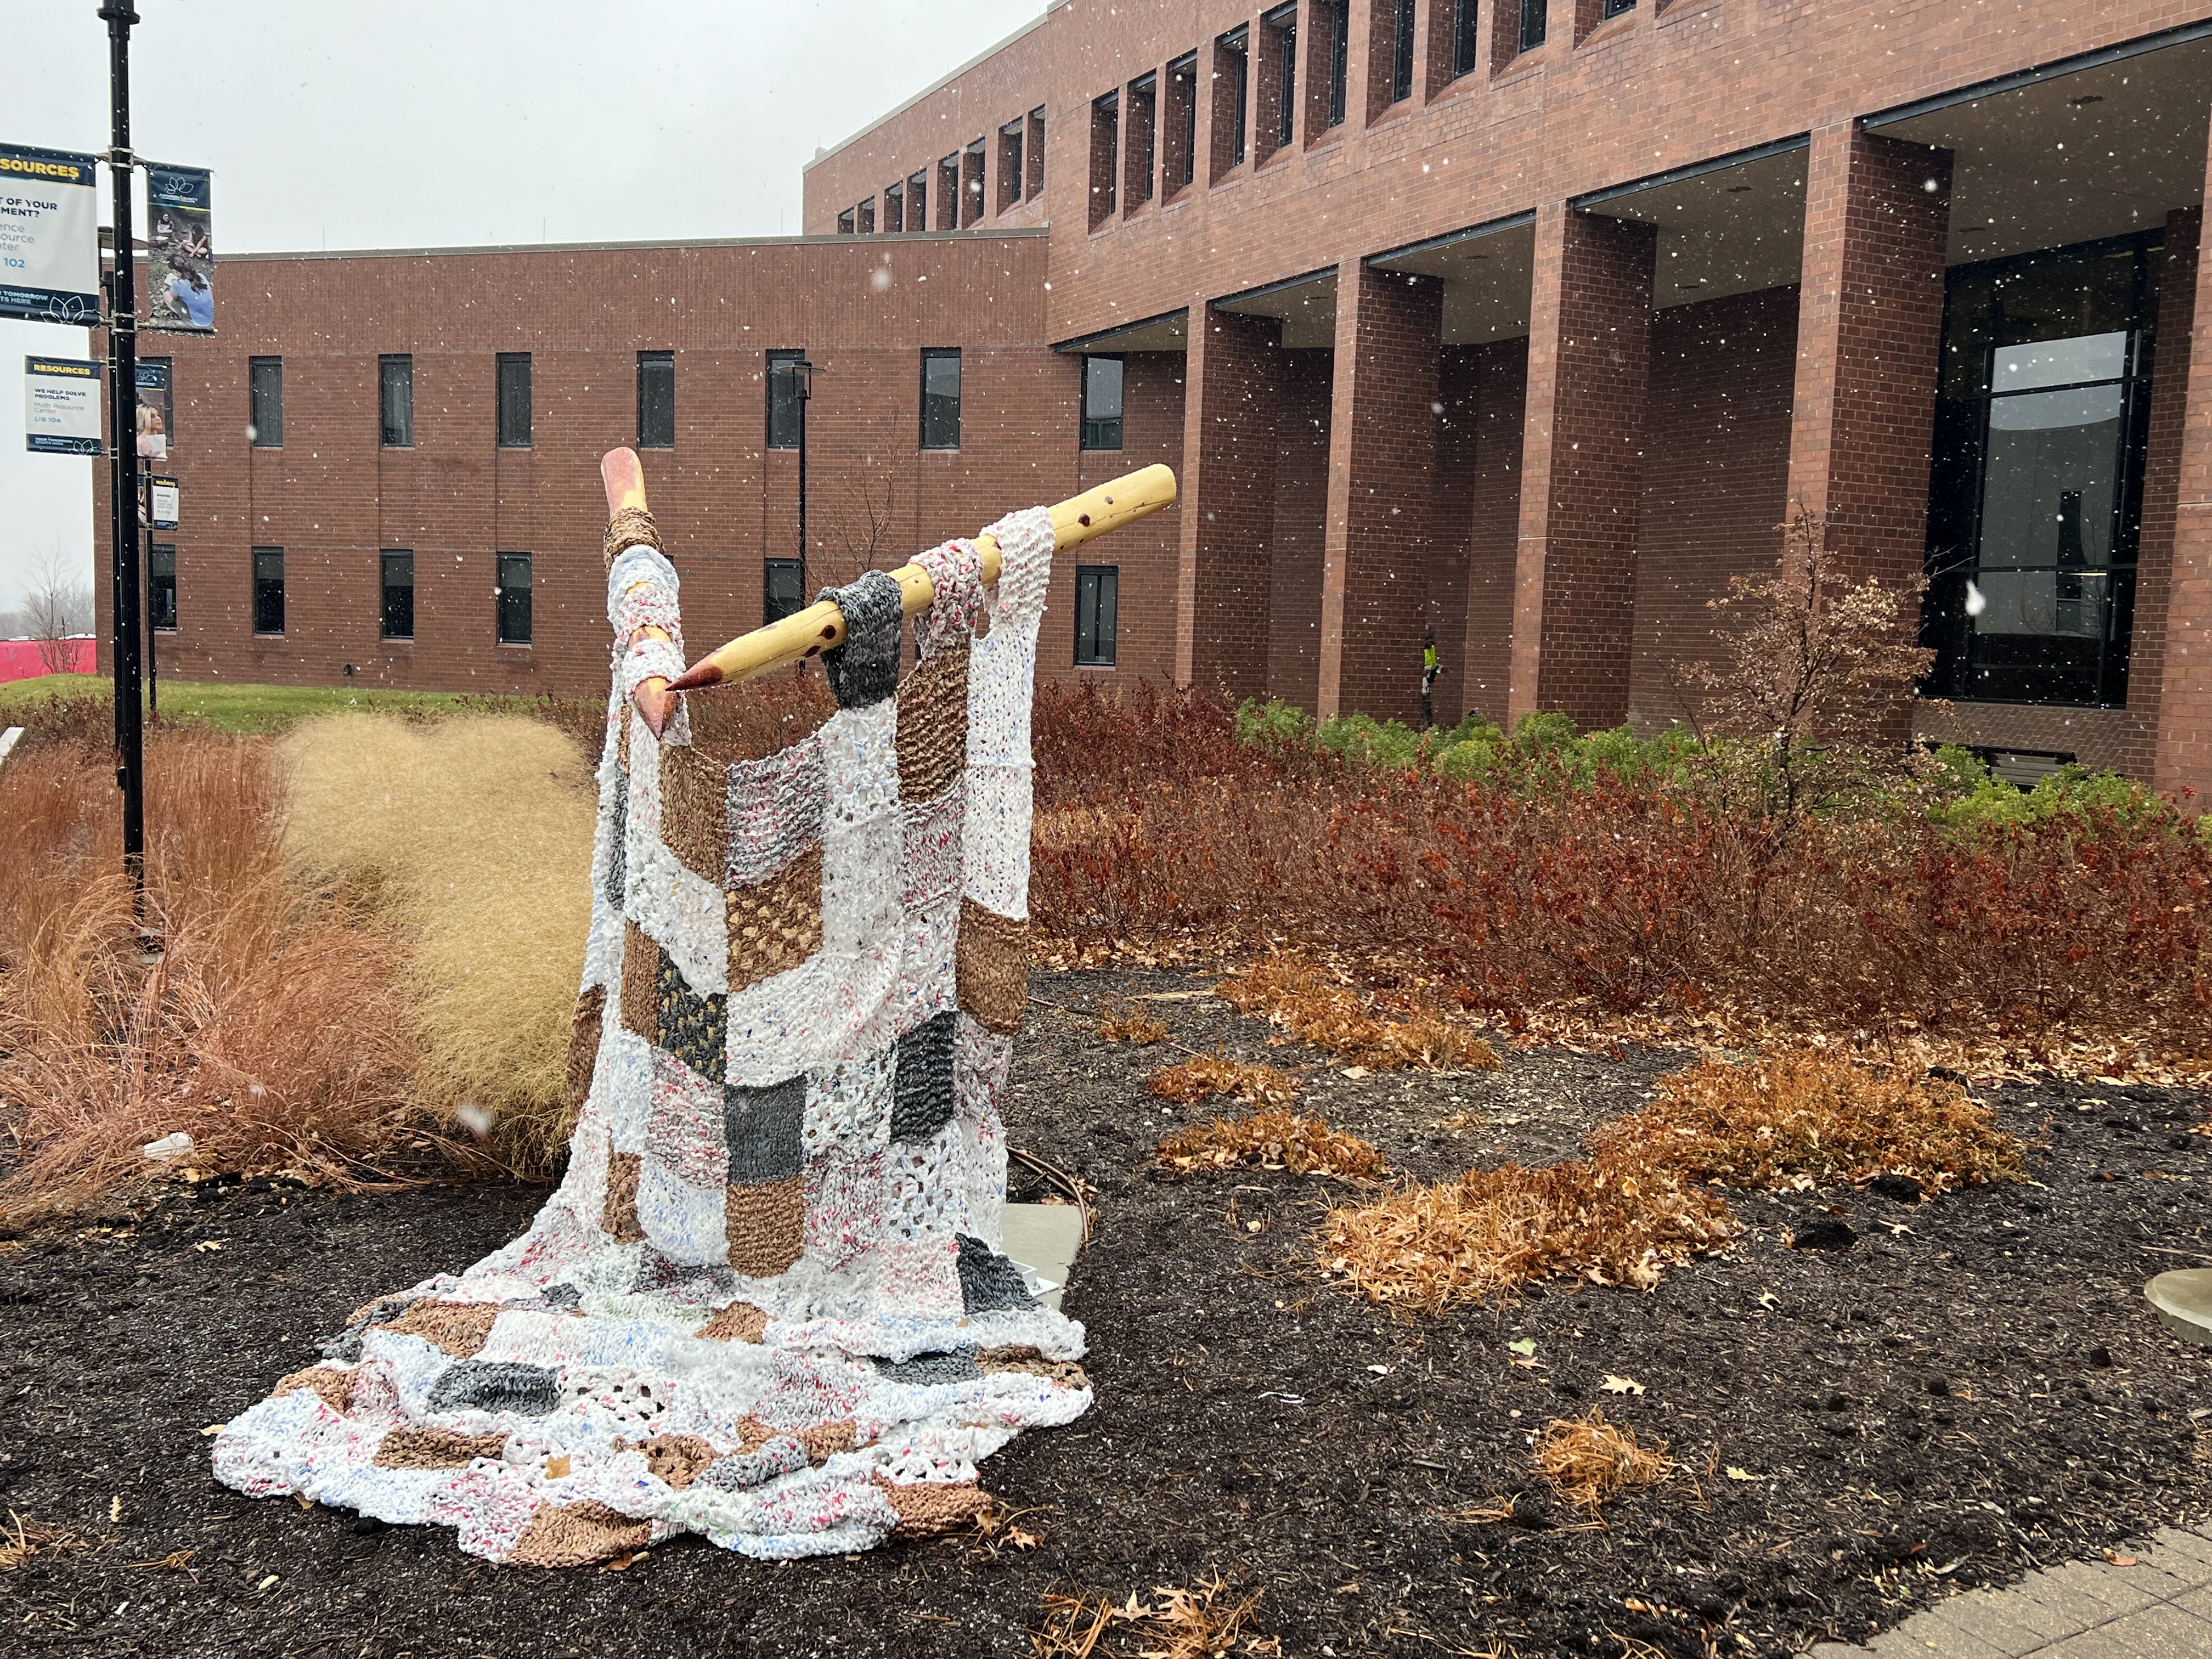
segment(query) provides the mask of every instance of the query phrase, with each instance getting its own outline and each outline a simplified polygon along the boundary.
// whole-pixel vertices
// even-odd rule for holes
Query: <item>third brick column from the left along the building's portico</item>
[[[1506,719],[1628,719],[1659,232],[1537,210]]]

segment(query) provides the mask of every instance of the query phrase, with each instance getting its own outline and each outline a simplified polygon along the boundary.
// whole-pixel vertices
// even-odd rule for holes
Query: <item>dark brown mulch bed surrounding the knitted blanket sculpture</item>
[[[1046,1595],[1219,1573],[1263,1593],[1256,1628],[1285,1655],[1798,1652],[2212,1511],[2212,1418],[2190,1416],[2212,1356],[2141,1298],[2152,1272],[2212,1263],[2212,1139],[2181,1133],[2201,1097],[2008,1086],[2035,1186],[1913,1208],[1736,1197],[1750,1234],[1655,1294],[1553,1287],[1398,1323],[1316,1276],[1332,1190],[1152,1170],[1159,1133],[1214,1113],[1146,1097],[1177,1051],[1099,1042],[1088,1009],[1190,984],[1033,978],[1046,1006],[1006,1117],[1097,1188],[1099,1219],[1068,1292],[1097,1407],[984,1464],[1033,1548],[940,1537],[768,1566],[684,1540],[624,1573],[531,1573],[442,1528],[243,1500],[208,1478],[201,1429],[372,1292],[460,1267],[544,1197],[252,1181],[0,1243],[0,1511],[82,1535],[0,1571],[0,1646],[1029,1655]],[[1548,1048],[1502,1073],[1352,1079],[1210,998],[1150,1006],[1192,1048],[1314,1066],[1303,1108],[1427,1179],[1573,1155],[1683,1062]],[[1453,1115],[1467,1126],[1438,1128]],[[1783,1248],[1832,1214],[1849,1252]],[[1509,1349],[1524,1338],[1533,1356]],[[1590,1405],[1679,1462],[1601,1526],[1528,1460],[1531,1433]],[[1500,1500],[1511,1520],[1482,1520]]]

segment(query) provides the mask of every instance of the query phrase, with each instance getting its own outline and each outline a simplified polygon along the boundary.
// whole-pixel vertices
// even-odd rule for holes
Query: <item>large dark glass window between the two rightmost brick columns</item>
[[[1929,690],[2128,701],[2163,232],[1944,274]]]

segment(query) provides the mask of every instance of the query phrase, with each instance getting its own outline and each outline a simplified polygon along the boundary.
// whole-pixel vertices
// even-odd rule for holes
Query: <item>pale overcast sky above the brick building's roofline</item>
[[[0,142],[106,148],[97,9],[9,0]],[[843,142],[1042,9],[137,0],[133,139],[139,155],[215,168],[217,257],[796,234],[799,177],[816,146]],[[144,215],[137,223],[144,234]],[[27,453],[18,389],[24,354],[91,356],[88,338],[0,321],[11,383],[0,396],[0,608],[42,555],[91,577],[91,462]]]

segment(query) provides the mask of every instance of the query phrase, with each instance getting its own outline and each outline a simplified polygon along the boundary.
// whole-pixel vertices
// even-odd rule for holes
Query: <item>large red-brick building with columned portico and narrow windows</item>
[[[796,241],[246,268],[177,345],[161,650],[595,681],[588,462],[666,374],[692,644],[752,624],[794,544],[763,374],[803,347],[810,582],[1177,469],[1175,513],[1057,575],[1053,675],[1411,717],[1433,626],[1440,719],[1663,726],[1705,602],[1803,507],[1851,568],[1927,573],[1953,734],[2205,787],[2208,108],[2208,0],[1062,0],[818,155]],[[411,447],[376,442],[396,354]],[[283,358],[281,451],[248,358]],[[411,646],[378,637],[387,549]]]

